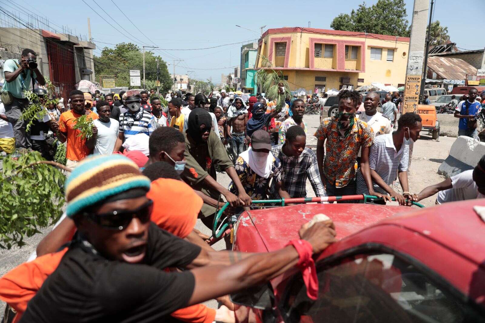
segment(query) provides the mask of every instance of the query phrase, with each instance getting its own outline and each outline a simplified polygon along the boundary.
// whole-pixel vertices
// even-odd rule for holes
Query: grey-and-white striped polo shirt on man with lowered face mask
[[[374,138],[369,152],[369,166],[387,185],[392,185],[396,180],[397,172],[406,171],[409,160],[409,146],[401,145],[399,152],[394,147],[392,134],[384,134]],[[374,191],[388,194],[383,188],[372,181]],[[357,194],[369,194],[367,185],[360,169],[357,172]]]

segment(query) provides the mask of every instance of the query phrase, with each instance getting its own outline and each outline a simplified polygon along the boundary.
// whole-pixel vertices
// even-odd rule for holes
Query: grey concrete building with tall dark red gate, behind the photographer
[[[37,64],[44,76],[66,98],[81,79],[95,82],[94,43],[77,36],[53,33],[43,29],[0,28],[2,60],[20,58],[25,48],[37,53]],[[0,70],[3,77],[3,70]]]

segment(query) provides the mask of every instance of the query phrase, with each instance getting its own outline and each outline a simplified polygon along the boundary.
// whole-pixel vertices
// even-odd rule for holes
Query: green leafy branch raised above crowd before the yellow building
[[[272,63],[263,55],[259,56],[261,60],[261,66],[255,74],[255,82],[265,93],[266,98],[270,101],[276,100],[277,111],[285,106],[285,98],[291,97],[290,85],[285,80],[283,72],[275,71],[272,67]]]

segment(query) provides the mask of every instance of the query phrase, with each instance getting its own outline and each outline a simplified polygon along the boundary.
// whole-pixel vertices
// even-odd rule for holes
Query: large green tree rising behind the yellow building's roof
[[[376,4],[367,7],[359,4],[357,10],[350,15],[336,16],[330,28],[337,31],[357,31],[409,37],[409,21],[406,19],[404,0],[378,0]]]

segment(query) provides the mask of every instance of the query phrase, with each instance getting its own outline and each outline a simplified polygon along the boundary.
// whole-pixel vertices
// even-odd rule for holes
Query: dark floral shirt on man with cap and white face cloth
[[[264,178],[255,173],[249,165],[242,159],[241,156],[236,160],[234,165],[236,173],[241,180],[241,184],[246,191],[246,194],[253,200],[266,200],[268,199],[268,188],[273,178],[273,182],[281,182],[281,164],[279,160],[273,157],[273,166],[271,167],[271,174],[268,178]],[[236,185],[232,182],[229,185],[229,191],[237,194],[238,190]]]

